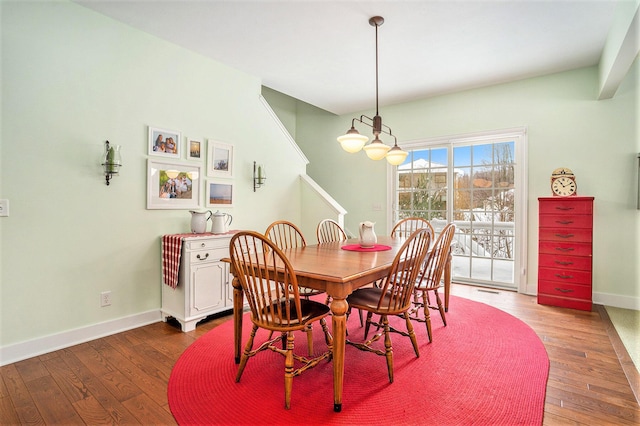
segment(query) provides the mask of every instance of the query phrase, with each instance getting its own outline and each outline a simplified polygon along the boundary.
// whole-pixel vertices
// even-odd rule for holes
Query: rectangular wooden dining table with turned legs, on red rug
[[[335,412],[342,410],[347,336],[346,315],[349,310],[347,296],[360,287],[385,278],[405,240],[404,237],[378,236],[377,244],[373,249],[358,250],[359,240],[348,239],[283,250],[295,271],[298,285],[324,291],[331,300],[333,409]],[[231,274],[235,274],[233,268],[231,268]],[[232,285],[234,356],[238,364],[242,354],[244,296],[240,281],[235,275]],[[448,295],[448,288],[445,290]],[[446,295],[445,300],[447,300]]]

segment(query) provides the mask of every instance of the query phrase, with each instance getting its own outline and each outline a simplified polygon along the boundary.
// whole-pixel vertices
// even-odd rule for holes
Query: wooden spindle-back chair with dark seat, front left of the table
[[[236,233],[230,242],[230,258],[236,271],[235,276],[242,284],[242,291],[251,309],[253,323],[249,340],[240,358],[236,382],[240,381],[249,358],[259,352],[270,349],[283,355],[284,406],[289,409],[293,378],[316,366],[323,359],[332,358],[333,338],[325,320],[330,313],[329,307],[300,297],[291,263],[273,242],[257,232]],[[319,321],[322,326],[327,351],[313,358],[295,354],[293,332],[304,330],[315,321]],[[269,330],[270,334],[266,342],[253,349],[258,328]],[[278,337],[273,338],[274,332]],[[276,345],[278,342],[282,342],[282,345]],[[294,369],[294,362],[302,365]]]

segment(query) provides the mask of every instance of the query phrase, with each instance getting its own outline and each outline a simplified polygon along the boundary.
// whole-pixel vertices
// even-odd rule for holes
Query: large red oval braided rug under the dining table
[[[251,358],[235,383],[233,322],[227,321],[176,362],[168,385],[171,412],[181,425],[542,424],[549,358],[528,325],[454,296],[446,327],[437,311],[431,318],[431,344],[424,324],[414,322],[419,358],[408,338],[392,334],[394,383],[384,357],[347,345],[340,413],[333,411],[331,363],[293,379],[290,410],[284,409],[284,358],[278,354],[265,351]],[[390,321],[404,329],[400,318]],[[250,325],[245,316],[243,347]],[[322,350],[317,328],[314,348]],[[348,329],[352,340],[362,338],[358,315],[351,316]],[[265,334],[256,342],[260,336]],[[304,354],[304,334],[296,343]]]

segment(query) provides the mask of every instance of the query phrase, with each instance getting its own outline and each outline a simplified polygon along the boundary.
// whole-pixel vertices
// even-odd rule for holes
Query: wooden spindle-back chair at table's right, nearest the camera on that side
[[[427,228],[415,231],[402,245],[389,270],[389,274],[383,279],[380,287],[360,288],[347,297],[349,306],[367,311],[367,322],[364,330],[364,338],[369,334],[371,324],[381,326],[382,331],[364,343],[355,343],[347,340],[347,343],[364,351],[384,355],[387,359],[387,372],[389,382],[393,383],[393,351],[390,332],[396,332],[411,339],[416,357],[420,356],[418,342],[411,325],[407,311],[411,307],[413,287],[420,272],[420,266],[429,250],[431,234]],[[374,323],[373,314],[380,315],[380,322]],[[388,315],[401,315],[404,317],[407,331],[397,330],[389,325]],[[371,344],[384,335],[385,350],[376,349]]]

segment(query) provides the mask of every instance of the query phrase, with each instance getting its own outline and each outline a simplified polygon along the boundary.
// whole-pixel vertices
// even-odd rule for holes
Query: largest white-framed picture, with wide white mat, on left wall
[[[200,208],[201,166],[147,160],[147,209]]]

